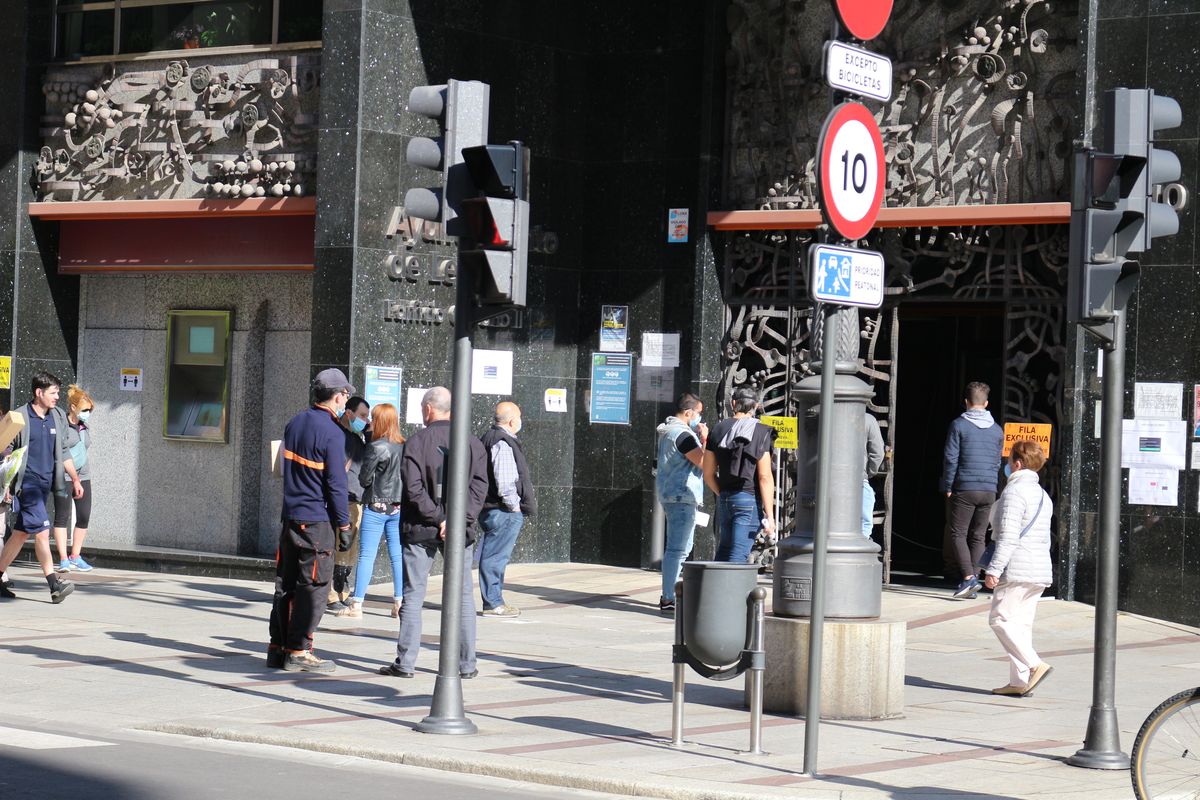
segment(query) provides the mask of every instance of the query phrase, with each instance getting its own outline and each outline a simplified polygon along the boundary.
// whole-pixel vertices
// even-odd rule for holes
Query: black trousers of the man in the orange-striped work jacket
[[[271,646],[311,650],[334,577],[334,527],[288,519],[275,553]]]

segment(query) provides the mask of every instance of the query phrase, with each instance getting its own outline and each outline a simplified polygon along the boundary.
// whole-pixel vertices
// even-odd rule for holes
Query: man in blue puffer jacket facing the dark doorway
[[[962,582],[954,590],[959,600],[979,591],[976,563],[983,554],[988,516],[996,501],[1004,432],[988,411],[988,384],[967,384],[966,410],[950,423],[946,435],[942,491],[949,498],[950,541]]]

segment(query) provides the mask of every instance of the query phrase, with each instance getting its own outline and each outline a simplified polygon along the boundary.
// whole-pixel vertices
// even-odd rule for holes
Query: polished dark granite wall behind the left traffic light
[[[476,348],[514,351],[512,398],[541,506],[518,560],[642,563],[654,427],[668,404],[635,399],[629,427],[589,422],[601,305],[630,306],[634,351],[644,331],[683,333],[674,390],[716,369],[712,350],[707,372],[697,351],[715,341],[715,294],[696,315],[697,276],[712,270],[702,223],[712,30],[710,13],[686,2],[326,4],[313,369],[348,363],[361,379],[366,365],[395,365],[406,390],[450,384],[450,323],[395,321],[384,311],[390,301],[444,309],[454,296],[430,275],[451,248],[421,242],[406,252],[385,235],[404,191],[428,185],[402,160],[409,137],[433,131],[403,110],[413,86],[488,83],[491,142],[521,139],[533,151],[530,222],[553,231],[558,247],[530,255],[527,312],[474,338]],[[691,210],[688,243],[666,242],[670,207]],[[426,273],[389,277],[395,254],[415,255]],[[569,413],[545,410],[551,387],[568,390]],[[476,431],[498,399],[474,398]]]

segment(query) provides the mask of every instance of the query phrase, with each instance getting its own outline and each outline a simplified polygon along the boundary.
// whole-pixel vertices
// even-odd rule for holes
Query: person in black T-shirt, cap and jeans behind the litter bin
[[[713,426],[704,445],[704,483],[716,495],[721,527],[716,560],[745,564],[758,528],[775,530],[775,475],[770,463],[775,431],[755,420],[758,396],[752,389],[734,391],[730,404],[733,416]],[[758,498],[763,500],[761,506]]]

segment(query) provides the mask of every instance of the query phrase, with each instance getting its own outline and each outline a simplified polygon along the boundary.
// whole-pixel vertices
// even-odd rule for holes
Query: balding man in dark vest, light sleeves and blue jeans
[[[504,569],[528,515],[538,512],[538,498],[529,476],[529,463],[517,434],[521,408],[504,401],[496,405],[496,422],[480,441],[487,451],[487,499],[479,524],[484,539],[479,546],[479,594],[484,616],[520,616],[521,609],[504,602]]]

